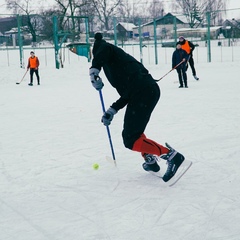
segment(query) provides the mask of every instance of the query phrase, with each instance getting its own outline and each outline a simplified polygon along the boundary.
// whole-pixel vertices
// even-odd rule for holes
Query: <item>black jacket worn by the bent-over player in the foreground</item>
[[[156,83],[143,64],[103,39],[94,42],[91,68],[103,68],[108,81],[119,93],[120,98],[112,104],[116,111],[126,106],[136,91]]]

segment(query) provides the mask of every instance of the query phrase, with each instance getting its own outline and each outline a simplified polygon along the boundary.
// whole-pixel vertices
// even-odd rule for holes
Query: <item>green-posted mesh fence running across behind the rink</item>
[[[179,36],[196,45],[195,61],[240,61],[240,9],[218,13],[206,13],[204,19],[195,19],[195,22],[189,16],[171,13],[155,19],[112,17],[108,29],[104,25],[98,26],[97,17],[93,16],[57,16],[54,23],[52,16],[31,15],[32,25],[29,26],[27,16],[1,15],[0,55],[9,65],[11,50],[19,51],[20,66],[25,49],[57,50],[57,57],[61,58],[66,45],[91,44],[94,32],[101,31],[107,41],[144,63],[170,63]]]

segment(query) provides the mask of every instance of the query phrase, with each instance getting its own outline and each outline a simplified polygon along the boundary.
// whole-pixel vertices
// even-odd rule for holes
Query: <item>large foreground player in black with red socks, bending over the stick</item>
[[[146,171],[160,171],[156,156],[167,160],[168,169],[163,180],[170,180],[184,161],[184,156],[168,144],[162,146],[144,134],[160,98],[158,84],[140,62],[121,48],[107,43],[102,39],[101,33],[96,33],[89,75],[93,87],[98,91],[103,88],[99,77],[101,69],[120,95],[102,116],[103,124],[110,125],[114,115],[127,106],[122,131],[125,147],[142,154],[145,160],[143,168]]]

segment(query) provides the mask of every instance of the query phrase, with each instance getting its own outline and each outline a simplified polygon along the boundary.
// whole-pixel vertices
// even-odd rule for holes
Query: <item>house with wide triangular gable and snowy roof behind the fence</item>
[[[187,19],[184,16],[175,16],[171,13],[167,13],[163,17],[155,19],[156,23],[156,35],[159,39],[171,39],[173,38],[173,30],[175,25],[177,28],[189,27]],[[143,38],[154,37],[154,21],[141,25],[141,33]],[[139,27],[133,28],[134,37],[139,36]]]

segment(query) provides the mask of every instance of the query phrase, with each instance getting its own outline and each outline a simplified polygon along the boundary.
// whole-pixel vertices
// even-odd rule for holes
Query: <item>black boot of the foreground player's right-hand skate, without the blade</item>
[[[161,158],[167,160],[167,171],[163,176],[163,181],[169,181],[177,172],[178,168],[184,161],[184,156],[173,149],[169,144],[166,143],[166,147],[169,148],[169,153],[162,155]]]

